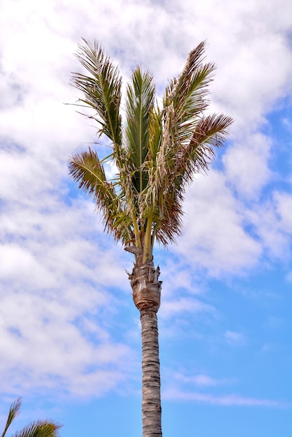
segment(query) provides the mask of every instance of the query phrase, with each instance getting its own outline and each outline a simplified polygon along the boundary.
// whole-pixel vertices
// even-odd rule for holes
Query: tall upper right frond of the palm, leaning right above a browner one
[[[157,155],[154,183],[169,186],[177,174],[177,161],[194,135],[209,102],[206,95],[214,64],[202,64],[205,43],[187,58],[182,73],[170,81],[163,98],[163,140]],[[202,162],[203,164],[203,162]]]

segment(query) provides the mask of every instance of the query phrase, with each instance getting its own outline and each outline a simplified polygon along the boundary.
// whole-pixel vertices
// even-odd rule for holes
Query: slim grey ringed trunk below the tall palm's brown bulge
[[[142,333],[143,437],[162,437],[158,325],[156,311],[140,311]]]

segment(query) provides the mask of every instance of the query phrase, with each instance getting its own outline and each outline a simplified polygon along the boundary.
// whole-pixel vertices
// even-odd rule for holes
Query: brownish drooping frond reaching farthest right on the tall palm
[[[206,172],[214,158],[213,147],[224,145],[228,128],[233,120],[224,114],[212,114],[200,119],[188,147],[180,147],[175,158],[168,163],[165,175],[161,178],[156,172],[156,197],[159,201],[159,231],[157,240],[163,244],[173,242],[182,228],[182,203],[187,185],[194,175]],[[159,188],[157,188],[159,187]]]

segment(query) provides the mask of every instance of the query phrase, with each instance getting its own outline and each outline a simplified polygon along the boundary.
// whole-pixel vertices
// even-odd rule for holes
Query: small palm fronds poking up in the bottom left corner
[[[15,417],[20,415],[21,398],[17,399],[10,406],[10,410],[7,417],[6,426],[1,437],[6,435],[6,431],[10,427]],[[52,422],[50,420],[36,420],[31,422],[20,431],[16,431],[13,437],[59,437],[60,424]]]

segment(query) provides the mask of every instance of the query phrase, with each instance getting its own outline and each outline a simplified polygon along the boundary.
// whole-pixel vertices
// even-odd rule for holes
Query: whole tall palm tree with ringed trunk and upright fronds
[[[215,66],[205,63],[204,48],[200,43],[189,53],[161,105],[152,74],[138,66],[126,87],[123,122],[122,78],[99,43],[78,45],[76,56],[86,74],[72,75],[73,86],[82,91],[78,105],[94,110],[87,117],[96,122],[98,136],[108,138],[110,154],[100,159],[90,147],[74,154],[71,177],[94,198],[105,230],[135,256],[128,273],[142,327],[143,437],[162,435],[156,318],[161,281],[154,242],[166,246],[180,235],[185,190],[196,173],[207,171],[214,147],[224,145],[232,123],[224,114],[205,114]],[[105,163],[115,163],[114,178],[106,177]]]

